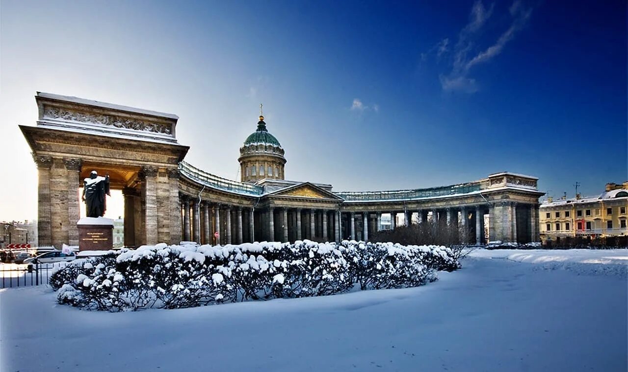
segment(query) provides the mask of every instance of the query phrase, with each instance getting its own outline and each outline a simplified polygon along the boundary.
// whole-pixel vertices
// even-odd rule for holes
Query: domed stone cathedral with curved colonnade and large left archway
[[[469,243],[539,240],[543,193],[528,175],[499,172],[430,189],[334,192],[325,183],[286,180],[284,150],[260,115],[240,148],[241,180],[229,180],[183,161],[189,147],[176,140],[176,115],[49,93],[35,100],[36,126],[20,128],[39,172],[40,245],[78,245],[78,190],[92,170],[108,173],[112,189],[122,190],[127,247],[369,240],[382,229],[382,214],[391,215],[386,228],[447,224]]]

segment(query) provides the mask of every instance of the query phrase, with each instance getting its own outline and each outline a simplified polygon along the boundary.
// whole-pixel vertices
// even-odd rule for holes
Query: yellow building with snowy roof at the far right
[[[544,245],[628,236],[628,181],[607,183],[597,197],[561,198],[539,206],[539,232]],[[619,243],[619,240],[615,244]]]

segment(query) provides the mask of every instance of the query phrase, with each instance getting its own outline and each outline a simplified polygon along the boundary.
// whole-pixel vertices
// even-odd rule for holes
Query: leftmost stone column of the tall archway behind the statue
[[[52,210],[50,207],[50,168],[52,157],[33,155],[37,164],[37,239],[40,247],[52,245]]]

